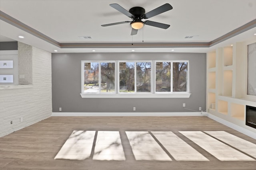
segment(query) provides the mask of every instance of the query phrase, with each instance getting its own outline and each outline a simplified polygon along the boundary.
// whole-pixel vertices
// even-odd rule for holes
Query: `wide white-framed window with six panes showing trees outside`
[[[82,66],[84,97],[90,96],[86,94],[112,94],[117,98],[134,94],[145,94],[143,97],[153,94],[159,98],[174,94],[190,96],[188,61],[82,61]]]

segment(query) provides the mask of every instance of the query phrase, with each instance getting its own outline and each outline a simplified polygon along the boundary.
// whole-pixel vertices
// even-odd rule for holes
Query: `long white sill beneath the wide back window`
[[[191,93],[171,94],[80,94],[82,98],[189,98]]]

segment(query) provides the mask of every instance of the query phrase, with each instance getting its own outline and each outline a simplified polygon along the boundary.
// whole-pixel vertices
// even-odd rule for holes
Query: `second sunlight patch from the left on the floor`
[[[119,131],[98,131],[93,160],[125,160]]]

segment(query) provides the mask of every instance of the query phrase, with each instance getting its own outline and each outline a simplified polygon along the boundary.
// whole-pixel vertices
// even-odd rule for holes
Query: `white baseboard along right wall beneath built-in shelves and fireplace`
[[[243,127],[240,127],[240,126],[238,126],[238,125],[236,125],[234,123],[231,123],[229,121],[226,121],[224,119],[221,119],[220,117],[214,116],[214,115],[212,115],[210,113],[208,113],[208,117],[210,119],[218,121],[219,123],[221,123],[223,125],[226,125],[227,127],[232,128],[232,129],[234,129],[234,130],[236,130],[236,131],[238,131],[240,133],[243,133],[244,135],[247,135],[247,136],[249,136],[249,137],[251,137],[253,139],[256,139],[256,133],[254,133],[252,131],[249,131],[248,129],[244,129]]]

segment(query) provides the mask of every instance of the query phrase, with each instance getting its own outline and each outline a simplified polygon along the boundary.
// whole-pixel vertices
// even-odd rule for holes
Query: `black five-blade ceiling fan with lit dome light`
[[[132,18],[132,21],[122,21],[122,22],[116,22],[116,23],[108,23],[101,25],[102,27],[110,26],[110,25],[117,25],[117,24],[122,24],[122,23],[130,23],[132,27],[132,32],[131,35],[136,35],[138,32],[138,29],[141,29],[144,25],[150,25],[153,27],[158,27],[158,28],[163,28],[167,29],[170,27],[170,25],[165,24],[165,23],[159,23],[155,21],[142,21],[142,19],[148,19],[153,16],[156,16],[158,14],[162,14],[163,12],[166,12],[168,10],[172,9],[172,6],[168,3],[159,6],[158,8],[147,12],[145,14],[145,9],[139,6],[132,7],[129,11],[124,9],[122,6],[119,4],[110,4],[111,7],[115,8],[119,12],[123,13],[124,15],[128,16],[129,18]]]

